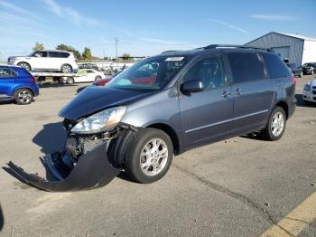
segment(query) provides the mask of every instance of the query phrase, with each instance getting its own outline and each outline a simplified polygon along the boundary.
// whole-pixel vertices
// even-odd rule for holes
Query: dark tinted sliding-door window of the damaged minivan
[[[230,52],[228,60],[235,83],[265,79],[265,66],[254,52]]]

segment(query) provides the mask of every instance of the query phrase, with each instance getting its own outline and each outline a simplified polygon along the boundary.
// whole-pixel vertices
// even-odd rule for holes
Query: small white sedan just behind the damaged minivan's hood
[[[69,77],[66,82],[68,84],[76,82],[92,82],[105,78],[103,71],[97,71],[94,69],[80,69],[77,73],[77,77]]]

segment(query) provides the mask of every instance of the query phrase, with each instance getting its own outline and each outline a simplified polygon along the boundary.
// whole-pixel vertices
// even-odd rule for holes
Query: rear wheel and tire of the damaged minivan
[[[265,140],[276,141],[283,136],[286,127],[285,111],[281,107],[275,107],[264,130],[262,136]]]

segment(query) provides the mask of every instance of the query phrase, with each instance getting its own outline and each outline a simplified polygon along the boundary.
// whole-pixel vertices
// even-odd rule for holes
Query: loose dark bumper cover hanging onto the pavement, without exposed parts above
[[[87,154],[80,156],[75,166],[69,168],[60,156],[46,156],[45,166],[56,176],[58,181],[49,181],[39,175],[26,173],[23,168],[9,162],[8,166],[23,181],[45,191],[71,192],[88,190],[107,185],[120,173],[120,169],[112,166],[107,156],[107,145],[104,143]]]

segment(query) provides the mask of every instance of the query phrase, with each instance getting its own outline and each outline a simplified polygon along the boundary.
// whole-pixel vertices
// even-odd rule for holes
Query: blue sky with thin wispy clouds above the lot
[[[65,43],[94,56],[151,56],[270,32],[316,38],[315,0],[0,0],[0,61]]]

